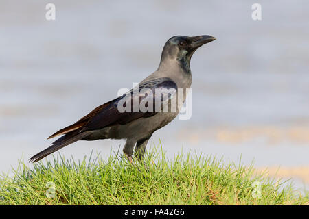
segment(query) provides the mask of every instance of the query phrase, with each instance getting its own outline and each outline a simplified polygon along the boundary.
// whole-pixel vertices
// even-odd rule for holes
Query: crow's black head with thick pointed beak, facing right
[[[203,44],[214,41],[216,38],[213,36],[173,36],[165,43],[161,64],[165,60],[176,60],[179,64],[190,70],[190,60],[193,53]],[[160,65],[161,65],[160,64]]]

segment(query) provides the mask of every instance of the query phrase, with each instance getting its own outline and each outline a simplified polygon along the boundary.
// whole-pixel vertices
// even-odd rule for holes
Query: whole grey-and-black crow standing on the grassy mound
[[[157,70],[141,81],[137,88],[96,107],[73,125],[49,136],[47,139],[61,137],[47,149],[31,157],[29,162],[38,162],[78,140],[100,139],[125,139],[123,152],[127,159],[133,162],[134,149],[137,159],[143,159],[152,133],[168,125],[179,114],[186,96],[183,90],[190,88],[192,84],[190,61],[193,53],[203,44],[214,40],[216,38],[209,35],[173,36],[163,47]],[[146,92],[142,92],[143,90]],[[165,92],[159,93],[158,90]],[[176,110],[168,109],[163,112],[163,105],[172,107],[180,94],[183,95],[183,100],[176,102]],[[138,108],[143,101],[146,102],[146,110]],[[134,103],[137,103],[137,107]]]

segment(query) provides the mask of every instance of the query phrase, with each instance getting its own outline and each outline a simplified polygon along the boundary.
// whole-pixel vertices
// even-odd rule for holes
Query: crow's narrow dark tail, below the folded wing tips
[[[33,162],[33,163],[38,162],[40,159],[43,159],[47,155],[50,155],[51,153],[54,153],[55,151],[62,149],[64,146],[72,144],[73,142],[76,142],[78,140],[82,140],[86,136],[89,136],[89,134],[90,133],[88,131],[85,131],[85,132],[82,132],[82,133],[79,133],[79,132],[76,133],[76,132],[73,131],[72,133],[67,133],[67,134],[65,134],[65,136],[62,136],[61,138],[59,138],[58,140],[53,142],[52,146],[49,146],[47,149],[45,149],[45,150],[37,153],[33,157],[31,157],[29,159],[29,162]]]

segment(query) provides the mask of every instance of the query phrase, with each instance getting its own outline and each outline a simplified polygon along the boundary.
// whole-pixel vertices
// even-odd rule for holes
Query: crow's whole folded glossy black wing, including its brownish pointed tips
[[[54,138],[62,134],[70,133],[71,131],[82,132],[102,129],[104,127],[115,124],[124,125],[138,118],[154,116],[155,114],[157,114],[157,110],[155,108],[156,100],[159,99],[159,102],[162,106],[169,99],[171,99],[174,94],[176,94],[176,90],[176,83],[172,81],[172,79],[170,79],[169,77],[162,77],[158,79],[152,79],[144,83],[139,83],[138,89],[133,88],[123,96],[120,96],[113,101],[109,101],[108,103],[100,105],[89,114],[87,114],[87,116],[84,116],[83,118],[78,120],[78,122],[57,131],[49,138]],[[136,93],[137,91],[138,93]],[[147,94],[145,94],[147,93],[147,91],[151,91],[152,96],[148,96]],[[148,102],[148,104],[153,104],[152,112],[151,110],[143,111],[141,109],[135,111],[133,103],[137,103],[137,99],[138,103],[144,101]],[[126,106],[126,104],[131,104],[130,112],[119,112],[118,105],[121,104],[124,107]],[[148,104],[146,104],[146,106]]]

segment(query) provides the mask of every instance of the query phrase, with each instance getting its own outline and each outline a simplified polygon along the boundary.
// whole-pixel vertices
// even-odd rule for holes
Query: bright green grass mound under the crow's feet
[[[33,168],[21,161],[13,177],[0,178],[0,205],[308,205],[308,194],[295,196],[252,165],[182,153],[168,160],[158,149],[145,158],[132,165],[118,153],[106,161],[58,156]]]

